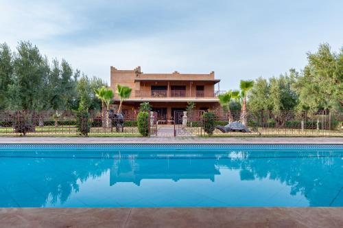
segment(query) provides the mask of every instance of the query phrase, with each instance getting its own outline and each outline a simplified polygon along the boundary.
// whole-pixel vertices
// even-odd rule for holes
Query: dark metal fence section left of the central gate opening
[[[139,111],[0,111],[0,136],[108,136],[139,137]],[[150,116],[146,122],[150,133]]]

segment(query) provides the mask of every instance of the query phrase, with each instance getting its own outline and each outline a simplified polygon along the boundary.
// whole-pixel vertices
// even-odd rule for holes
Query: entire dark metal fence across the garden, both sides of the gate
[[[212,137],[343,137],[343,112],[306,111],[183,111],[174,113],[174,126],[158,126],[149,113],[139,127],[139,111],[124,110],[122,117],[108,111],[0,111],[0,137],[6,136],[212,136]],[[177,120],[177,121],[176,121]],[[229,123],[244,128],[228,128]],[[238,125],[237,125],[238,123]],[[174,132],[174,134],[173,134]],[[342,138],[343,140],[343,138]]]

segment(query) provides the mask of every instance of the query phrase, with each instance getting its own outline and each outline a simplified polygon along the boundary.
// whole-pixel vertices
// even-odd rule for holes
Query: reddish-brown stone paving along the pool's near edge
[[[10,208],[0,227],[343,227],[343,207]]]

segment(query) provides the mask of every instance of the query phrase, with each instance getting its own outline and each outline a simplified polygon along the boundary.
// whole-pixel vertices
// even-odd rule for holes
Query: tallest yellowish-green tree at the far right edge
[[[331,52],[329,44],[319,46],[318,52],[307,54],[309,63],[296,82],[298,109],[343,110],[343,48]]]

